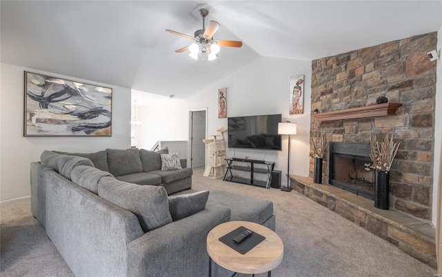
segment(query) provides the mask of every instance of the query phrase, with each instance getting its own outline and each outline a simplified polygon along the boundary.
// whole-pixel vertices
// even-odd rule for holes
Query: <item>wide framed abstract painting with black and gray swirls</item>
[[[112,88],[25,71],[24,136],[111,136]]]

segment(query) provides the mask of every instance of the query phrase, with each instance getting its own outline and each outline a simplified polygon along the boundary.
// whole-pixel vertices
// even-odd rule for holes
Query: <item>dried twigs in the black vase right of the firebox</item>
[[[370,137],[372,165],[369,165],[369,167],[389,172],[400,144],[397,141],[393,141],[393,134],[385,134],[385,136],[372,135]]]

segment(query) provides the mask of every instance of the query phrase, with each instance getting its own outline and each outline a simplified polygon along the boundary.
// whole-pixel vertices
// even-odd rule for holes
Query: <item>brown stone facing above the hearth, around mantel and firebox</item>
[[[390,170],[390,207],[419,218],[431,218],[434,156],[437,33],[391,41],[311,63],[311,110],[345,110],[373,105],[386,96],[402,103],[395,116],[316,121],[310,136],[327,134],[327,141],[369,143],[371,134],[394,133],[400,141]],[[311,159],[310,176],[313,176]],[[328,154],[324,157],[328,181]]]

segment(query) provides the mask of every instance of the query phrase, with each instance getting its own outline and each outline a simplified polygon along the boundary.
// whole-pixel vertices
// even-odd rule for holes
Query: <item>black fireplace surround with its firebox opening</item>
[[[369,143],[329,143],[329,184],[374,200]]]

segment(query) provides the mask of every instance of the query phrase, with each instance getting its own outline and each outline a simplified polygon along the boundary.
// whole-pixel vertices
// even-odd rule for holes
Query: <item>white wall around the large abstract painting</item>
[[[113,88],[112,137],[30,137],[23,136],[23,103],[25,70],[74,79]],[[43,150],[95,152],[106,148],[123,149],[131,145],[131,90],[113,85],[41,72],[1,63],[0,95],[0,200],[30,196],[30,163],[39,161]],[[122,137],[115,137],[122,134]]]

